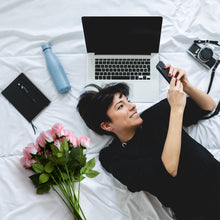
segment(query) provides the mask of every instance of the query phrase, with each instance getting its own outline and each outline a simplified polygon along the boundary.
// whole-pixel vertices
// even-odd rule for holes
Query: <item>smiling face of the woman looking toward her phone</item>
[[[110,117],[111,131],[116,135],[121,131],[136,130],[143,122],[137,113],[136,105],[129,102],[127,97],[116,93],[107,115]]]

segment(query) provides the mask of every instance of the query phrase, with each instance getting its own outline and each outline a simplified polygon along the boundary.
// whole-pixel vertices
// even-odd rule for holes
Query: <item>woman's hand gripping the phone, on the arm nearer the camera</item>
[[[186,90],[190,86],[189,80],[186,76],[186,71],[180,68],[176,68],[171,66],[170,64],[166,64],[165,69],[170,68],[169,70],[169,77],[174,77],[177,80],[180,80],[183,84],[183,91]]]

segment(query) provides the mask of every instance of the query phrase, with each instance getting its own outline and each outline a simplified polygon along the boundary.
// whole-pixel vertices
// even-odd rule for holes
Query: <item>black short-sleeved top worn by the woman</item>
[[[207,113],[187,98],[183,125],[195,124]],[[142,126],[125,147],[114,138],[101,150],[101,164],[130,191],[152,193],[177,216],[220,216],[220,163],[208,150],[182,130],[177,176],[172,177],[162,163],[169,114],[167,99],[144,111]]]

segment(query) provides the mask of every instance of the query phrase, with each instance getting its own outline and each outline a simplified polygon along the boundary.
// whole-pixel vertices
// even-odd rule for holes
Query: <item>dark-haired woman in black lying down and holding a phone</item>
[[[178,220],[220,219],[220,163],[182,129],[210,113],[215,102],[189,83],[184,70],[167,67],[167,99],[140,116],[121,83],[83,93],[77,108],[89,128],[114,136],[99,159],[131,192],[152,193]]]

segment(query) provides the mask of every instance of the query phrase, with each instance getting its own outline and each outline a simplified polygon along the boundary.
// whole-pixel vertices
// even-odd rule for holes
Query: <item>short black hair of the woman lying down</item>
[[[111,133],[103,130],[100,125],[102,122],[111,122],[107,110],[113,101],[114,95],[120,93],[128,97],[129,87],[125,83],[111,83],[103,88],[95,84],[86,87],[89,86],[96,88],[98,91],[89,90],[81,94],[77,110],[90,129],[97,134],[110,135]]]

